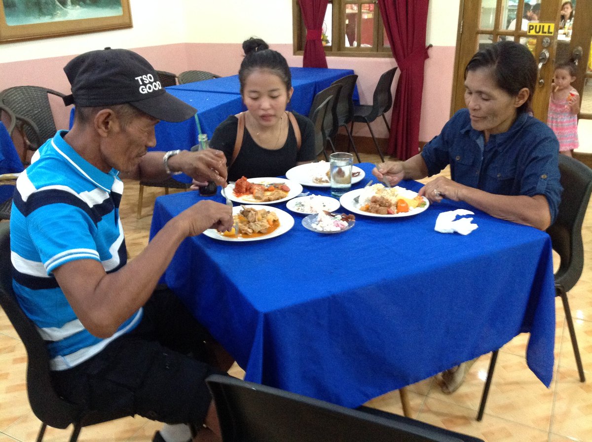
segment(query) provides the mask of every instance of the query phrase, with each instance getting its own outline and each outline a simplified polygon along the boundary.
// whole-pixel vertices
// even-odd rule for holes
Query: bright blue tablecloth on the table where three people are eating
[[[355,188],[374,167],[358,166],[366,177]],[[150,236],[200,198],[158,197]],[[224,201],[220,188],[212,198]],[[457,208],[474,211],[479,227],[436,232],[437,215]],[[269,240],[187,238],[163,275],[246,380],[355,407],[527,332],[527,364],[551,383],[555,289],[545,232],[448,200],[411,217],[356,215],[339,234],[294,218]]]

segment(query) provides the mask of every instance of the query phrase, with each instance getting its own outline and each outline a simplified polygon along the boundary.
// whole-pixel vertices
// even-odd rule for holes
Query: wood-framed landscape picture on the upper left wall
[[[130,0],[0,0],[0,43],[131,27]]]

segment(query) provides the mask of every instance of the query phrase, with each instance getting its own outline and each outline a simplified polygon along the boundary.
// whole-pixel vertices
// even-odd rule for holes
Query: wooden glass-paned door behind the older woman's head
[[[562,0],[538,0],[537,2],[540,4],[538,20],[533,17],[530,23],[538,21],[539,24],[554,24],[554,32],[551,35],[529,36],[526,30],[522,30],[524,0],[461,0],[461,23],[456,44],[458,49],[451,114],[465,107],[464,73],[466,64],[473,54],[487,44],[512,39],[525,44],[540,66],[532,107],[535,117],[546,121]],[[580,2],[584,3],[584,0],[578,0],[578,4]],[[535,2],[531,1],[530,4],[534,5]],[[542,54],[548,54],[548,56],[545,57]],[[542,58],[539,59],[539,57]]]

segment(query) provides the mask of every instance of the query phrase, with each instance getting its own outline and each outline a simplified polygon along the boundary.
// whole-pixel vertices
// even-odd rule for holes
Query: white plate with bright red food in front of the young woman
[[[229,183],[224,196],[242,204],[275,204],[300,195],[302,186],[289,179],[245,178]]]

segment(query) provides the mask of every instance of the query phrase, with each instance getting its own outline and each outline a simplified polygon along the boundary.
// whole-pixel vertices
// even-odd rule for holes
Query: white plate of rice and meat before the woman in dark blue
[[[344,193],[339,202],[355,214],[382,218],[411,217],[430,206],[427,198],[417,192],[400,186],[385,187],[380,183]]]

